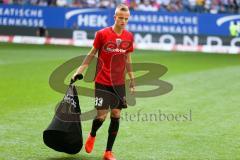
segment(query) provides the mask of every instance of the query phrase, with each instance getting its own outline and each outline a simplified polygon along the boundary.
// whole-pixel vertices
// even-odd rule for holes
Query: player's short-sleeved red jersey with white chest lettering
[[[127,54],[133,52],[132,33],[123,30],[117,35],[112,27],[107,27],[96,33],[93,46],[98,49],[95,82],[108,86],[124,84]]]

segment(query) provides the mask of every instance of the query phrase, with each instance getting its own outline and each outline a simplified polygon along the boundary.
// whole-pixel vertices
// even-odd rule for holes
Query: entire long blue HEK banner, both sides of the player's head
[[[0,5],[1,26],[99,30],[114,23],[113,9]],[[229,36],[240,33],[240,15],[132,11],[132,32]],[[232,27],[234,28],[234,27]]]

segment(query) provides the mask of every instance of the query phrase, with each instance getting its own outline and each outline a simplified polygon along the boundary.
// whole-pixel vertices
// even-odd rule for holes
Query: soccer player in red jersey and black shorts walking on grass
[[[95,107],[97,116],[92,122],[92,129],[85,144],[87,153],[91,153],[96,139],[96,132],[102,126],[107,114],[111,112],[108,129],[105,160],[116,160],[112,147],[119,130],[122,108],[127,108],[125,93],[125,71],[130,79],[129,89],[135,92],[134,75],[131,67],[133,52],[133,34],[125,29],[130,16],[129,8],[120,4],[116,7],[114,25],[96,32],[93,47],[85,60],[73,75],[73,79],[82,74],[93,57],[98,53],[95,75]]]

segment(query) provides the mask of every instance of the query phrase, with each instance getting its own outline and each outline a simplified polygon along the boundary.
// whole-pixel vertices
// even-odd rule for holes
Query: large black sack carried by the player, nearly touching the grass
[[[76,154],[82,149],[81,109],[73,80],[58,104],[49,127],[43,132],[44,143],[59,152]]]

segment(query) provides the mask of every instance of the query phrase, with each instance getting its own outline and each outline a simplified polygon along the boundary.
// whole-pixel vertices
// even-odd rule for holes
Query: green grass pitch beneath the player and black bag
[[[77,155],[58,153],[42,141],[42,131],[63,97],[50,88],[49,76],[88,50],[0,44],[0,160],[101,160],[109,120],[99,130],[90,155],[84,149]],[[137,98],[136,106],[122,114],[187,115],[191,110],[191,120],[122,119],[113,148],[119,160],[240,159],[240,55],[136,50],[133,61],[166,66],[168,72],[161,79],[174,89],[159,97]],[[83,112],[93,108],[89,97],[80,96],[80,101]],[[82,126],[85,140],[91,121]]]

